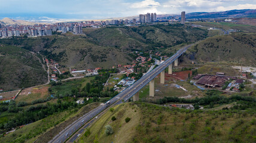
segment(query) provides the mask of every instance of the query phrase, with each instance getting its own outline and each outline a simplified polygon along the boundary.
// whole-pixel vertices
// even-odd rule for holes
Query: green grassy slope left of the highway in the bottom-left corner
[[[45,119],[38,120],[37,122],[17,129],[13,133],[9,133],[4,136],[4,138],[0,138],[0,142],[19,142],[23,139],[28,139],[26,142],[34,142],[36,140],[37,142],[47,142],[47,139],[50,139],[49,136],[56,135],[56,133],[60,132],[65,126],[68,126],[71,122],[98,105],[99,103],[92,103],[82,107],[79,111],[72,110],[53,114]]]

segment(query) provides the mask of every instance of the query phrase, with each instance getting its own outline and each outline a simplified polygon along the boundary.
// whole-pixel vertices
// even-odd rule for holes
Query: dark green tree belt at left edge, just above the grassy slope
[[[25,105],[25,102],[16,104],[15,101],[11,101],[10,103],[1,103],[0,111],[8,111],[8,112],[19,112],[12,118],[6,122],[0,124],[0,129],[8,130],[11,128],[16,128],[16,126],[26,125],[28,123],[36,122],[37,120],[44,119],[47,116],[52,115],[53,113],[61,112],[64,110],[71,110],[73,108],[80,108],[82,105],[78,105],[73,101],[61,101],[58,100],[56,104],[50,104],[47,102],[46,105],[32,105],[29,108],[21,108],[20,105]]]

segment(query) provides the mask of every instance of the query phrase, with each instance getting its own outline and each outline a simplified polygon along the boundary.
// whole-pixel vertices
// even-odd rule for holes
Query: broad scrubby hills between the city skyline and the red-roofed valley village
[[[111,68],[130,63],[129,53],[167,48],[183,42],[206,38],[207,30],[170,24],[168,26],[106,27],[83,29],[85,35],[44,36],[38,38],[1,39],[0,43],[19,45],[67,68]]]

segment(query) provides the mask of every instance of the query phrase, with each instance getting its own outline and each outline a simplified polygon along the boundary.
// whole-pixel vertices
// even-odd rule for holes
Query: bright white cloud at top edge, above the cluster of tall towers
[[[141,2],[135,2],[131,4],[131,8],[152,8],[152,7],[159,7],[160,3],[154,0],[144,0]]]

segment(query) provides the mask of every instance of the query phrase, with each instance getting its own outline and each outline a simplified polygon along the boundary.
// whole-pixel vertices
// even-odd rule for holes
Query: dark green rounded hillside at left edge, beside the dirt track
[[[47,73],[35,55],[16,46],[0,46],[0,88],[8,91],[46,82]]]

